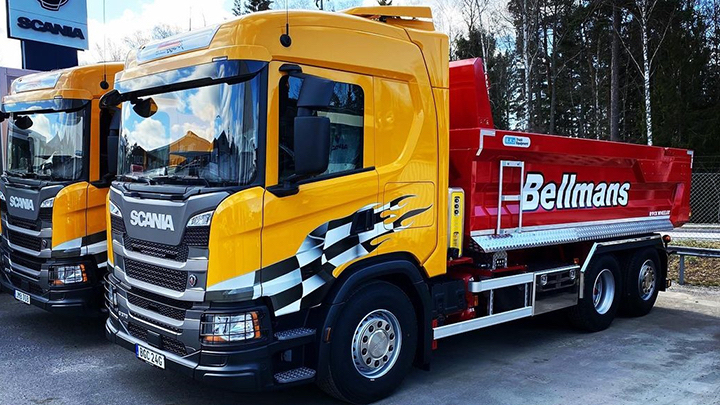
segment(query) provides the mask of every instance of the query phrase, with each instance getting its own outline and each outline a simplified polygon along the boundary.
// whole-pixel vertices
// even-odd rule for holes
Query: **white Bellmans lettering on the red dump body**
[[[565,173],[558,184],[546,181],[542,173],[528,173],[522,193],[523,211],[627,206],[630,183],[582,182],[577,177]]]

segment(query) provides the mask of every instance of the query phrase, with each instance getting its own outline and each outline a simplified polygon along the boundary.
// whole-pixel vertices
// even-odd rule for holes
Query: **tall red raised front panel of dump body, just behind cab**
[[[481,59],[450,62],[450,129],[493,128]]]

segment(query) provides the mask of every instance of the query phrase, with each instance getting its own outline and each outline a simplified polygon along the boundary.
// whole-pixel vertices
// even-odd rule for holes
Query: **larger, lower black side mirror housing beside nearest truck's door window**
[[[330,118],[296,117],[294,134],[295,176],[324,173],[330,163]]]

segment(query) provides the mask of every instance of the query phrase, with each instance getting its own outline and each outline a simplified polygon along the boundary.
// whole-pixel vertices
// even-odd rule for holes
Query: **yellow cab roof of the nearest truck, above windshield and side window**
[[[431,18],[427,7],[393,6],[358,7],[340,13],[252,13],[146,44],[131,52],[116,79],[125,81],[222,59],[279,60],[397,79],[417,77],[424,70],[433,86],[447,88],[448,38],[435,31]],[[292,38],[289,47],[280,43],[286,23]]]

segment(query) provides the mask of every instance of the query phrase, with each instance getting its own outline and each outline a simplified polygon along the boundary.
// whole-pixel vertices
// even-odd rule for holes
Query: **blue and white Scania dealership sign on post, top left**
[[[15,39],[88,49],[87,0],[7,0]]]

